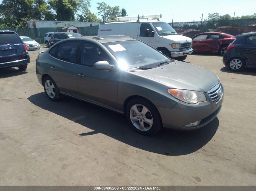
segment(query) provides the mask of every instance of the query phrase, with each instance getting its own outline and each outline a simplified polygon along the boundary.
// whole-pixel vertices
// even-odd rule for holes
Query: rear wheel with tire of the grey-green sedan
[[[60,100],[59,89],[51,77],[49,76],[45,77],[43,85],[44,85],[45,94],[49,98],[49,100],[52,100],[52,101]]]

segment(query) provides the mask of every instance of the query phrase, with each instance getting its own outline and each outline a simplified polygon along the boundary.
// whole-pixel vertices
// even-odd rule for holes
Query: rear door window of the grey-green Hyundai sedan
[[[77,63],[78,41],[61,43],[57,50],[57,58],[67,62]]]

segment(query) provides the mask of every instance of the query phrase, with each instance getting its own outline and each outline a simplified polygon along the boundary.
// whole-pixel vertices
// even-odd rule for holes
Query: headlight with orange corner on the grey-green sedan
[[[168,89],[168,92],[172,96],[176,97],[178,100],[181,100],[190,104],[206,101],[206,97],[204,93],[201,91]]]

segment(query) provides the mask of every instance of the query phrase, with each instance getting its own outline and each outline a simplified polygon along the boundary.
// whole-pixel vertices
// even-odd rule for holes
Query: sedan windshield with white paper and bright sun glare
[[[152,68],[160,62],[170,61],[165,55],[138,40],[103,43],[123,69]]]

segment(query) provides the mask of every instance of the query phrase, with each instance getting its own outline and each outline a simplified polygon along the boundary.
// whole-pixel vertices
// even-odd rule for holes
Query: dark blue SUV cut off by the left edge
[[[24,71],[29,62],[27,46],[18,34],[11,30],[0,30],[0,68],[18,67]]]

